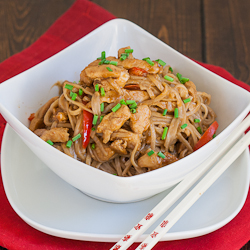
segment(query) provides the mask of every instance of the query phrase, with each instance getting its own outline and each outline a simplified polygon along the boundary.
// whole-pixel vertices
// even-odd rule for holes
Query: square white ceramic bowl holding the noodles
[[[118,177],[68,157],[28,129],[28,117],[51,97],[58,80],[78,81],[81,70],[100,56],[116,56],[130,45],[136,58],[161,58],[174,72],[190,78],[212,95],[219,135],[207,145],[166,167],[132,177]],[[57,175],[82,192],[111,202],[133,202],[160,193],[182,180],[220,146],[250,110],[250,93],[181,55],[132,22],[115,19],[73,45],[0,85],[0,111],[27,146]]]

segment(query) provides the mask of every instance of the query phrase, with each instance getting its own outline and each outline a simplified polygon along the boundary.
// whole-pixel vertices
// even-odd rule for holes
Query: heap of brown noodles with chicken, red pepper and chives
[[[211,96],[162,60],[118,58],[90,63],[80,81],[30,117],[30,129],[70,157],[118,176],[142,174],[191,154],[215,112]],[[56,84],[58,85],[58,83]]]

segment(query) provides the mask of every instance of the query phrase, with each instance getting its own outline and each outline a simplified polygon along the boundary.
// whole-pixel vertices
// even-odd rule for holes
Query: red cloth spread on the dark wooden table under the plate
[[[92,18],[94,17],[94,18]],[[114,18],[99,6],[77,0],[51,28],[29,48],[0,64],[0,82],[19,74],[85,36]],[[233,78],[226,70],[200,63],[207,69],[250,91],[250,86]],[[0,142],[6,122],[0,115]],[[0,143],[1,147],[1,143]],[[62,239],[37,231],[27,225],[11,208],[0,178],[0,246],[7,249],[109,249],[114,243]],[[250,240],[250,196],[240,213],[221,229],[205,236],[158,243],[154,249],[240,249]],[[133,244],[129,249],[135,249]]]

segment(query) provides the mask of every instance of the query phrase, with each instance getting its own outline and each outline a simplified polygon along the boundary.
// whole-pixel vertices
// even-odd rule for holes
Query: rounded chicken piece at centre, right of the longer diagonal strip
[[[136,113],[130,117],[130,127],[136,133],[142,135],[150,125],[151,111],[147,105],[140,105]]]

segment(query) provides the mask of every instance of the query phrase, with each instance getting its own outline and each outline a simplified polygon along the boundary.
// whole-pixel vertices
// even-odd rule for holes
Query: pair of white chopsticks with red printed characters
[[[250,115],[233,130],[213,156],[209,157],[199,167],[189,173],[184,180],[182,180],[161,202],[144,216],[137,225],[135,225],[119,242],[117,242],[111,250],[127,249],[231,148],[229,152],[214,166],[214,168],[181,201],[181,203],[179,203],[179,205],[177,205],[162,223],[160,223],[153,233],[151,233],[137,248],[143,250],[151,249],[247,147],[250,140],[249,132],[244,135],[235,146],[233,146],[233,144],[235,144],[237,139],[239,139],[249,125]]]

